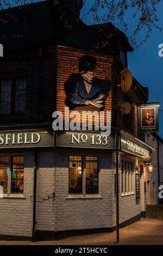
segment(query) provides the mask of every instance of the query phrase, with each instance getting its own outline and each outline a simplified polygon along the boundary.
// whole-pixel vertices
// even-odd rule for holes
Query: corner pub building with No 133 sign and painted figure
[[[63,0],[14,7],[8,12],[17,22],[0,25],[2,239],[115,230],[114,127],[120,129],[120,227],[145,217],[144,169],[152,148],[138,131],[137,106],[148,101],[148,88],[135,78],[127,93],[117,86],[133,48],[111,23],[85,25],[82,6]],[[6,10],[1,17],[7,19]],[[105,118],[111,112],[110,136],[52,129],[54,111],[95,110],[96,100],[104,103]],[[123,102],[131,104],[125,115]]]

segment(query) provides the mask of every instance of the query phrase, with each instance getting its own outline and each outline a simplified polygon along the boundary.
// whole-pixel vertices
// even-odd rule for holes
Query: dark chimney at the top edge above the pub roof
[[[67,9],[71,9],[73,13],[79,18],[80,10],[83,8],[83,0],[60,0],[62,5]]]

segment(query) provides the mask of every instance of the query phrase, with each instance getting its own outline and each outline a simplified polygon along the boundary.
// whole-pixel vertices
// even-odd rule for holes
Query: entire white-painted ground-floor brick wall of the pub
[[[30,153],[29,153],[30,152]],[[26,199],[0,199],[0,234],[32,236],[33,162],[32,151],[25,155],[24,196]],[[11,154],[11,153],[10,153]],[[7,155],[7,154],[5,154]],[[68,156],[99,156],[99,195],[101,198],[68,198]],[[36,230],[59,231],[115,226],[115,163],[109,150],[39,149],[37,171]],[[54,168],[55,166],[55,168]],[[135,176],[134,176],[135,177]],[[135,189],[135,178],[133,178]],[[121,172],[120,172],[121,188]],[[55,200],[48,199],[55,192]],[[135,194],[121,197],[120,223],[140,214]]]

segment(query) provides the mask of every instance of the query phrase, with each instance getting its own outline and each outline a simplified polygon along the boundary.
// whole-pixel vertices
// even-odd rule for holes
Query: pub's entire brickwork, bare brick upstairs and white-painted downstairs
[[[38,80],[38,114],[40,122],[51,122],[52,113],[57,108],[64,111],[66,94],[68,94],[74,75],[78,73],[78,60],[87,52],[74,48],[58,46],[49,47],[39,57]],[[2,117],[1,125],[17,125],[35,122],[35,82],[36,52],[5,58],[1,65],[1,77],[14,74],[27,74],[27,114]],[[105,111],[112,109],[112,125],[122,126],[124,117],[118,112],[124,95],[117,87],[118,75],[122,64],[114,62],[111,56],[92,53],[97,65],[94,72],[96,82],[109,88]],[[137,107],[134,105],[130,120],[131,133],[137,134]],[[123,126],[124,128],[125,126]],[[29,153],[30,152],[30,153]],[[2,153],[4,154],[4,153]],[[6,154],[6,153],[5,153]],[[10,154],[13,154],[13,151]],[[16,150],[14,151],[16,154]],[[22,151],[21,153],[22,154]],[[68,197],[68,155],[98,155],[101,160],[99,172],[99,194],[101,198]],[[25,157],[25,197],[26,199],[0,199],[1,234],[31,236],[33,221],[33,152],[24,150]],[[115,225],[115,163],[114,153],[109,150],[89,149],[40,149],[38,154],[39,170],[37,176],[37,212],[36,230],[58,231],[67,229],[86,229],[114,227]],[[54,168],[55,167],[55,168]],[[120,174],[121,175],[121,174]],[[135,179],[134,179],[135,180]],[[120,176],[121,181],[121,176]],[[133,181],[134,182],[134,181]],[[121,183],[120,183],[121,188]],[[55,192],[55,200],[52,197]],[[50,198],[49,198],[50,197]],[[14,209],[14,210],[13,210]],[[135,194],[121,196],[120,222],[140,214],[140,203],[136,203]],[[5,214],[3,214],[5,211]],[[2,214],[1,214],[2,212]],[[15,217],[16,216],[16,217]]]

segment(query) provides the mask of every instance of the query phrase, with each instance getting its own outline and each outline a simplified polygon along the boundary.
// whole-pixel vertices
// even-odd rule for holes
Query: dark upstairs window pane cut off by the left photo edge
[[[9,114],[11,111],[11,79],[3,79],[1,82],[1,114]]]

